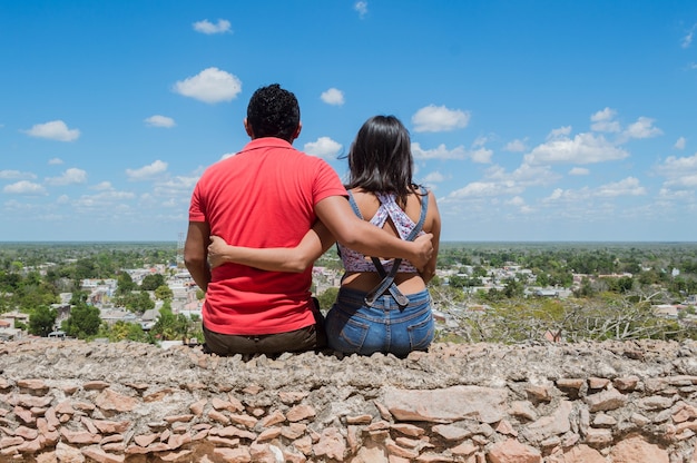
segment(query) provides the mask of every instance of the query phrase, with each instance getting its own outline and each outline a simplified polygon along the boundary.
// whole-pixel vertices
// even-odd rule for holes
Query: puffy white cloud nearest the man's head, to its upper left
[[[175,83],[174,91],[185,97],[216,104],[230,101],[242,91],[242,81],[218,68],[207,68]]]

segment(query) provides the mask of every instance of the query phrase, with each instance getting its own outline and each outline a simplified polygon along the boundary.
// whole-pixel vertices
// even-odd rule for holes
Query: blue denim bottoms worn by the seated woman
[[[431,296],[424,289],[406,297],[404,308],[389,293],[369,307],[365,293],[340,288],[326,315],[327,344],[334,351],[361,355],[382,352],[403,357],[412,351],[425,351],[435,329]]]

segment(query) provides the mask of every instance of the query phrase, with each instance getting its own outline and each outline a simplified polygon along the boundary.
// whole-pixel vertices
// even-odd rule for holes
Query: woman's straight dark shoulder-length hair
[[[363,124],[348,151],[348,184],[370,193],[392,193],[405,206],[419,194],[412,181],[409,130],[394,116],[373,116]]]

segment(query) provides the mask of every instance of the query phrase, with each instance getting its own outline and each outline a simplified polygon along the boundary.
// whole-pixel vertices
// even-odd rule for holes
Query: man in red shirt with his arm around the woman
[[[356,217],[334,169],[293,148],[302,129],[300,106],[277,83],[254,92],[244,126],[252,141],[204,173],[189,207],[184,259],[206,292],[206,348],[230,355],[323,347],[322,315],[310,293],[312,267],[302,273],[237,264],[210,269],[210,235],[237,246],[293,247],[318,219],[353,249],[416,266],[430,258],[431,239],[404,242]]]

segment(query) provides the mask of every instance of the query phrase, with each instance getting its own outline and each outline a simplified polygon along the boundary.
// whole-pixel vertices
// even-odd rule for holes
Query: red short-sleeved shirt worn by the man
[[[257,138],[206,170],[194,191],[189,218],[207,221],[212,235],[238,246],[292,247],[316,220],[314,206],[345,194],[323,160],[279,138]],[[206,327],[255,335],[313,324],[311,272],[264,272],[236,264],[215,268],[204,306]]]

